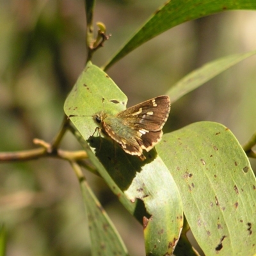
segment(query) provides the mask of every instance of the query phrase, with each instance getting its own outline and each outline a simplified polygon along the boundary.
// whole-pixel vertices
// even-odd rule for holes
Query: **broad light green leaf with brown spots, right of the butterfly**
[[[255,254],[256,180],[232,132],[221,124],[198,122],[165,134],[157,151],[205,255]]]

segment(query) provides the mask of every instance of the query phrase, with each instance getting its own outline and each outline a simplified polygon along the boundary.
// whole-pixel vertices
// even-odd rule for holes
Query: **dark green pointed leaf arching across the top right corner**
[[[107,70],[126,54],[147,42],[151,38],[189,20],[227,10],[255,10],[256,1],[252,0],[172,0],[156,10],[147,22],[131,37],[130,40],[114,54],[104,65]]]

